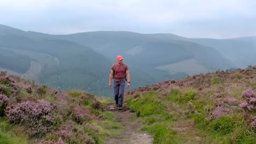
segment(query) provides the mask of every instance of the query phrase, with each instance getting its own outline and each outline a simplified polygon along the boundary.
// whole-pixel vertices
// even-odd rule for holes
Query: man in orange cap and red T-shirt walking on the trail
[[[109,87],[112,86],[112,79],[114,79],[114,96],[115,96],[115,106],[118,110],[123,108],[124,100],[124,88],[125,81],[127,81],[127,87],[130,87],[130,74],[128,65],[123,63],[123,57],[117,56],[117,63],[111,66],[109,75]]]

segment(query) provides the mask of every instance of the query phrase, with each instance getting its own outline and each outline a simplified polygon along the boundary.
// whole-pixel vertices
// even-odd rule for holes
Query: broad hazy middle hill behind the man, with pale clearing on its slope
[[[44,36],[46,37],[47,35]],[[42,37],[38,38],[40,39]],[[207,69],[207,71],[233,67],[228,59],[223,57],[221,53],[212,47],[202,46],[179,39],[156,38],[152,34],[100,31],[69,35],[50,35],[48,38],[65,39],[91,47],[113,62],[117,55],[122,55],[125,57],[125,62],[129,63],[130,68],[133,69],[131,75],[134,76],[133,80],[135,80],[135,82],[133,82],[133,85],[135,83],[135,87],[152,84],[165,79],[180,79],[191,75],[187,73],[187,71],[179,71],[178,73],[170,74],[168,68],[156,68],[187,61],[190,58],[194,58],[196,65],[201,65]],[[145,60],[142,61],[142,59]],[[187,66],[188,65],[184,65],[184,67]],[[196,70],[194,67],[190,68]],[[150,71],[150,73],[148,71]],[[146,74],[147,77],[145,77],[144,74]],[[145,81],[147,81],[147,83]]]

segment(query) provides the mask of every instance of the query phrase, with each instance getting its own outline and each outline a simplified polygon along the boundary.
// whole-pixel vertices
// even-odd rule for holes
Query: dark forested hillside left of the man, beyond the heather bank
[[[28,79],[60,90],[112,93],[105,85],[111,63],[89,47],[66,40],[34,40],[20,35],[2,35],[0,45],[2,68],[20,75],[31,68],[32,72],[26,75]]]

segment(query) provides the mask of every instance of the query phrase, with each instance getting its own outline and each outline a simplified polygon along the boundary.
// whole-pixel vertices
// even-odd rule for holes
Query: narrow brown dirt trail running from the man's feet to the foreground
[[[118,110],[114,103],[108,104],[108,111],[113,111],[117,115],[117,122],[124,125],[125,130],[119,136],[110,136],[106,143],[137,143],[148,144],[152,143],[153,138],[146,132],[137,132],[141,128],[142,124],[138,122],[132,122],[131,119],[136,117],[135,113],[127,110],[127,105],[123,105],[123,110]]]

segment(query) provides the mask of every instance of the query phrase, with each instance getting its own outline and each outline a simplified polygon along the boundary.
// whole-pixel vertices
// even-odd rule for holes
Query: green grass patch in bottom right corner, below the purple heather
[[[212,121],[206,119],[204,112],[190,117],[195,127],[206,134],[206,143],[256,143],[255,129],[246,126],[242,115],[227,115]]]

